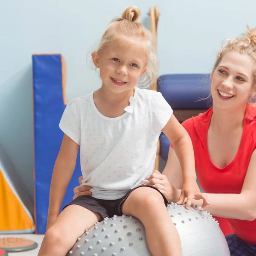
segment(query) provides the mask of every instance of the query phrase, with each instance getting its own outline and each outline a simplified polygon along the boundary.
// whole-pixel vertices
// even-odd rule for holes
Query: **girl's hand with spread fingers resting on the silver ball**
[[[191,206],[191,201],[192,199],[200,200],[202,199],[203,202],[203,207],[206,207],[209,203],[207,196],[204,193],[201,193],[198,184],[193,183],[191,181],[189,182],[184,182],[182,186],[182,190],[180,193],[180,198],[177,201],[177,204],[182,204],[186,199],[186,209],[189,209]]]

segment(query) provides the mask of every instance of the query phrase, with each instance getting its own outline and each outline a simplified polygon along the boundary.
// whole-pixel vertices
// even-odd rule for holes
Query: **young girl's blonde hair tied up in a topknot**
[[[157,79],[157,54],[151,32],[139,21],[140,10],[135,6],[127,7],[122,17],[113,19],[105,30],[97,53],[101,55],[104,49],[118,43],[120,38],[141,42],[147,56],[145,67],[147,71],[141,77],[140,87],[151,87]]]

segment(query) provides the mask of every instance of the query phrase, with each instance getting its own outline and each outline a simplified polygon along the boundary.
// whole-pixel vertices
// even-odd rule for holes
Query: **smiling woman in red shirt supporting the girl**
[[[249,102],[256,92],[256,29],[224,44],[210,79],[212,108],[183,127],[192,139],[198,180],[209,199],[204,209],[229,222],[231,256],[255,256],[256,107]],[[182,172],[172,147],[163,174],[154,171],[148,180],[169,202],[185,200],[185,195],[179,198]],[[85,190],[75,188],[75,197],[89,193]]]

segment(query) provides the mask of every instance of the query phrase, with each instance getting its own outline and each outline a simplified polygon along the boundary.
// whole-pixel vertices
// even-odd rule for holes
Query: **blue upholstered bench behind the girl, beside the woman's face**
[[[160,76],[157,90],[171,105],[176,118],[184,120],[204,113],[210,107],[206,99],[210,93],[209,74],[174,74]],[[170,141],[165,134],[160,135],[160,157],[167,160]]]

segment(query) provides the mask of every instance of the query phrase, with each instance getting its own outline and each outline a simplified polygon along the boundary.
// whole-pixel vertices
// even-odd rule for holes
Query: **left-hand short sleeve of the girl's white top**
[[[81,115],[78,99],[73,99],[68,103],[61,117],[59,127],[64,134],[80,145]]]

